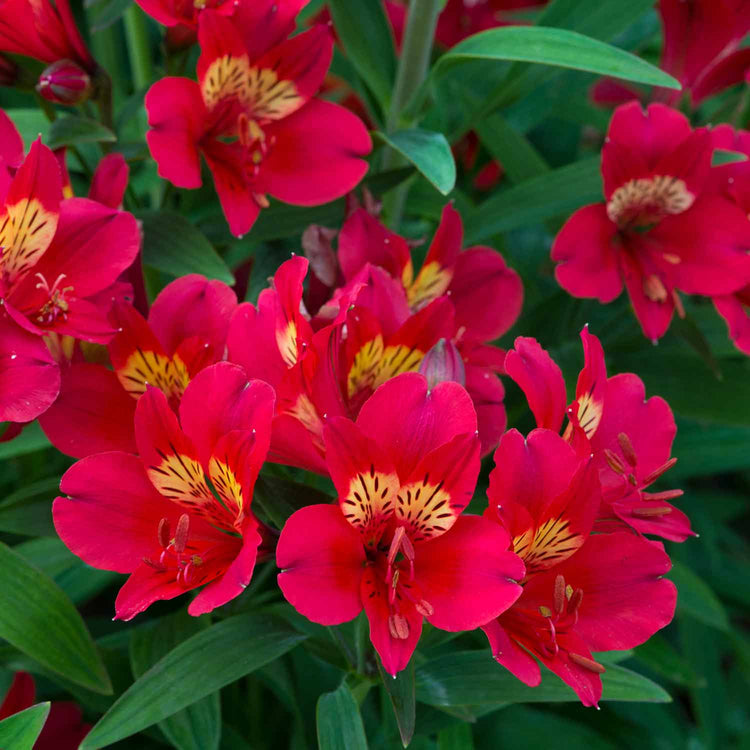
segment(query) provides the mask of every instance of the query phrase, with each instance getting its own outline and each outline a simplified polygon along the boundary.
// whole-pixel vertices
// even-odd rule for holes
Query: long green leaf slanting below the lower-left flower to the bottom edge
[[[139,677],[99,720],[81,750],[106,747],[262,667],[304,636],[283,620],[238,615],[181,643]]]

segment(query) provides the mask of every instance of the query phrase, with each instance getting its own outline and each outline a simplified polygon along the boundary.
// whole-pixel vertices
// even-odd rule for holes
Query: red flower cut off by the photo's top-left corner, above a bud
[[[2,0],[0,51],[46,63],[73,60],[89,73],[96,61],[76,27],[69,0]]]

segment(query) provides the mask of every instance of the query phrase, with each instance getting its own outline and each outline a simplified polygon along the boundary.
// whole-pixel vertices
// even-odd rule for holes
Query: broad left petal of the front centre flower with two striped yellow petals
[[[301,614],[338,625],[362,611],[365,552],[359,534],[335,505],[310,505],[284,525],[276,547],[279,587]]]

